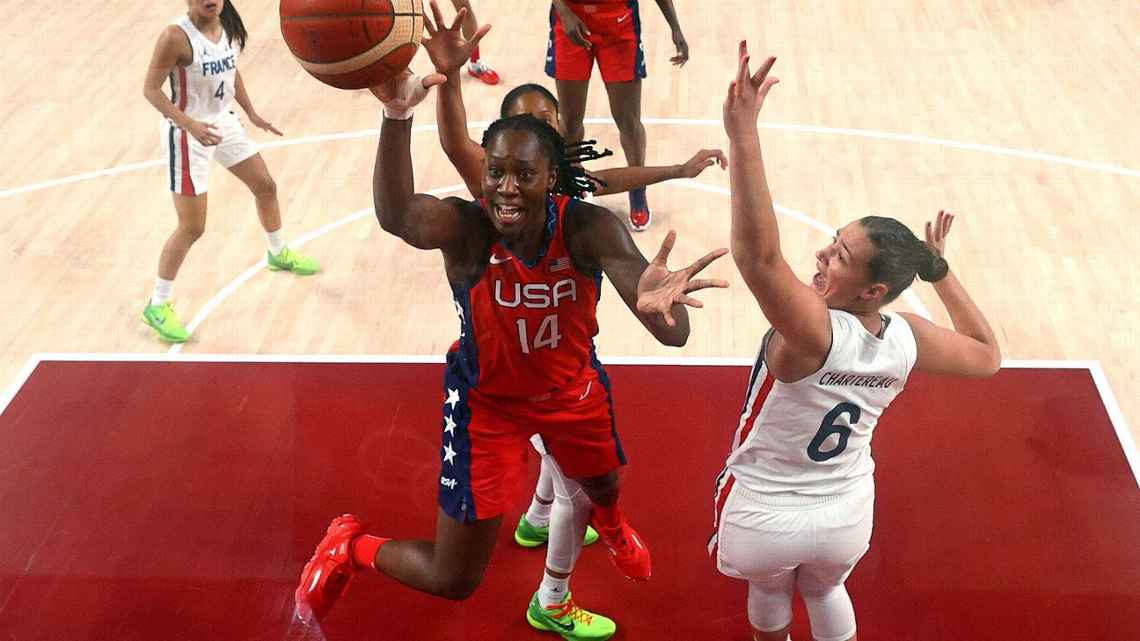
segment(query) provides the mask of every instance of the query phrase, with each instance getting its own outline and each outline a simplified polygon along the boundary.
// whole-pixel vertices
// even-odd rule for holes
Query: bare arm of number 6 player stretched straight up
[[[740,66],[724,103],[728,133],[728,176],[732,185],[732,258],[764,316],[787,346],[805,358],[822,362],[831,348],[831,320],[824,300],[792,273],[780,251],[772,194],[764,175],[756,117],[768,90],[775,58],[749,75],[748,47],[740,43]]]

